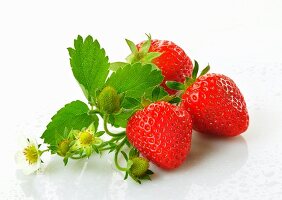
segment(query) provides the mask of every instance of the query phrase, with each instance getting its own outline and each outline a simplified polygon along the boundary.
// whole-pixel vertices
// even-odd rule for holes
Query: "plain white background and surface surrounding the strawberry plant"
[[[0,2],[0,199],[282,199],[282,1]],[[66,50],[91,34],[111,61],[144,33],[172,40],[202,66],[230,76],[248,105],[250,127],[233,139],[193,135],[178,170],[153,166],[152,182],[122,180],[111,156],[52,157],[41,175],[15,168],[20,135],[39,138],[64,104],[84,100]]]

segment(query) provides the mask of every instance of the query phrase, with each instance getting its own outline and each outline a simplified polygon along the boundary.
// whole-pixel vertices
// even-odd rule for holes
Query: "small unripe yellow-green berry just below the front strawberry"
[[[146,175],[147,170],[149,169],[149,161],[146,158],[135,157],[132,158],[132,166],[130,172],[133,176],[141,178]]]

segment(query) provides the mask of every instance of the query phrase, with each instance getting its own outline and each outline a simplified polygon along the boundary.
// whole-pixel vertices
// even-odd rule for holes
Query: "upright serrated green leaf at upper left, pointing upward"
[[[91,36],[78,36],[74,48],[68,48],[74,77],[82,85],[83,93],[93,103],[96,91],[104,86],[109,73],[109,59],[105,50]]]

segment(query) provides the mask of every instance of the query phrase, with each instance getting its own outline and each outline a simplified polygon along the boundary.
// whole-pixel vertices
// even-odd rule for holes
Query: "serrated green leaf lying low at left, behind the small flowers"
[[[44,139],[45,143],[50,144],[51,149],[54,151],[58,142],[68,136],[64,134],[65,128],[68,130],[81,130],[94,122],[97,129],[98,117],[88,115],[88,110],[88,106],[82,101],[73,101],[66,104],[52,117],[52,121],[47,125],[47,129],[41,138]]]

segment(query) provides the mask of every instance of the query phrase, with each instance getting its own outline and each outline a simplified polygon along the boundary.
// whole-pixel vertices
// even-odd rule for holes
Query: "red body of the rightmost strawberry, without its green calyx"
[[[237,136],[249,126],[243,95],[221,74],[201,76],[182,95],[181,107],[192,116],[193,129],[215,136]]]

